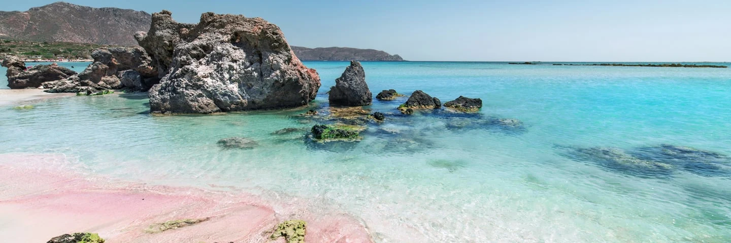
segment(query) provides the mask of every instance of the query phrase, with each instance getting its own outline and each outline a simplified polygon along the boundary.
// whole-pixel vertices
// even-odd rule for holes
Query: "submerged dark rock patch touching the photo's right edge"
[[[630,153],[643,160],[678,166],[683,171],[700,176],[731,176],[731,158],[721,153],[671,144],[639,147]]]

